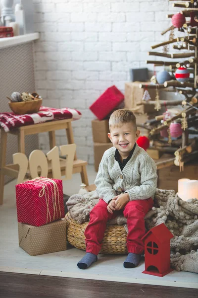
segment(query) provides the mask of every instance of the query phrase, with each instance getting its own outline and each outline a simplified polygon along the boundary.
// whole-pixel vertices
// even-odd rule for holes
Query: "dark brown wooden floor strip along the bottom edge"
[[[198,289],[0,272],[0,298],[195,298]]]

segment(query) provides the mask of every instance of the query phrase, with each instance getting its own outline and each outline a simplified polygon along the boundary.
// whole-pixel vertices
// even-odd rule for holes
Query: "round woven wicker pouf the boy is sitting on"
[[[71,218],[69,212],[66,214],[65,220],[67,223],[68,242],[76,248],[86,250],[84,232],[89,222],[78,224]],[[107,225],[100,253],[126,254],[126,239],[127,232],[123,225]]]

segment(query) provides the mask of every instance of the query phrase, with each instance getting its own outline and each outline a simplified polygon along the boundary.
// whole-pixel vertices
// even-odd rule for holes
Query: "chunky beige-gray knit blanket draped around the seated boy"
[[[99,202],[97,191],[77,194],[67,202],[71,217],[79,224],[89,221],[89,214]],[[154,207],[145,217],[147,230],[164,223],[174,237],[171,239],[171,265],[177,271],[198,273],[198,200],[183,201],[174,190],[157,189]],[[120,215],[107,224],[127,224]]]

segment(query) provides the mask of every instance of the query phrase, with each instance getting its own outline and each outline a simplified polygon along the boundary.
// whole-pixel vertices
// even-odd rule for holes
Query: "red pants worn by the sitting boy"
[[[102,199],[90,212],[90,223],[85,229],[86,252],[99,254],[108,220],[115,218],[118,212],[109,213],[107,203]],[[124,217],[127,219],[128,235],[127,249],[128,252],[142,254],[144,244],[141,238],[145,235],[145,215],[153,206],[151,198],[147,200],[129,201],[124,207]]]

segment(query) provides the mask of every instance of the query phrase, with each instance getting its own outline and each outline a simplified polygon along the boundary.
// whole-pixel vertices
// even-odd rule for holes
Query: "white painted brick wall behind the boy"
[[[129,69],[146,67],[150,46],[168,39],[168,0],[34,0],[35,79],[44,104],[79,109],[73,122],[79,158],[94,162],[89,106],[109,86],[124,92]],[[160,57],[159,57],[160,58]],[[160,59],[161,60],[161,59]],[[147,65],[153,71],[152,65]],[[56,132],[57,145],[67,144],[65,131]],[[48,134],[40,136],[48,150]]]

